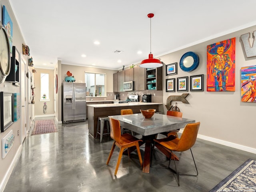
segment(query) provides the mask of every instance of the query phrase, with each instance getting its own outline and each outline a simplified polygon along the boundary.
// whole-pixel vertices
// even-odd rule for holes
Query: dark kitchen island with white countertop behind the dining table
[[[113,103],[113,104],[88,104],[88,129],[89,134],[96,138],[98,117],[120,115],[122,109],[132,109],[133,113],[140,113],[141,110],[156,109],[162,103],[144,103],[144,102],[128,102],[128,103]]]

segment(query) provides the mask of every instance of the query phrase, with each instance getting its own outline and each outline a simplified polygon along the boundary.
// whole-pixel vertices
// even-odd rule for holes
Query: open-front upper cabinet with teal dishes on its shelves
[[[163,67],[146,68],[146,90],[163,90]]]

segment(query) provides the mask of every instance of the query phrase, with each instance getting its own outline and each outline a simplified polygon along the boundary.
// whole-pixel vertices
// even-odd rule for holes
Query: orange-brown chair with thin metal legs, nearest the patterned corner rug
[[[197,137],[197,134],[198,134],[199,126],[200,126],[200,122],[187,124],[185,126],[184,131],[182,132],[182,135],[180,136],[180,138],[177,138],[174,135],[170,135],[166,138],[154,139],[154,146],[156,146],[160,150],[161,150],[161,148],[164,148],[165,150],[167,150],[170,153],[170,157],[174,155],[173,152],[183,152],[183,151],[186,151],[186,150],[190,149],[190,152],[192,154],[192,158],[193,158],[193,161],[194,161],[194,164],[195,164],[195,167],[196,167],[196,162],[194,160],[194,156],[193,156],[191,148],[192,148],[192,146],[194,146],[194,144],[196,142],[196,137]],[[154,146],[153,146],[153,155],[154,155]],[[174,166],[175,166],[175,170],[173,170],[172,168],[170,168],[171,160],[172,160],[172,158],[170,158],[170,160],[169,160],[168,167],[156,167],[156,166],[152,166],[152,167],[155,167],[155,168],[169,168],[172,171],[174,171],[177,175],[179,186],[180,186],[179,175],[198,176],[197,167],[196,167],[196,174],[179,173],[178,170],[177,170],[177,167],[176,167],[175,158],[173,158]]]

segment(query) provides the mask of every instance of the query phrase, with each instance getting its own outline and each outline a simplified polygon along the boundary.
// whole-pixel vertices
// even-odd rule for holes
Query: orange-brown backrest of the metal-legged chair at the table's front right
[[[180,136],[180,140],[175,151],[186,151],[196,143],[200,122],[187,124]]]

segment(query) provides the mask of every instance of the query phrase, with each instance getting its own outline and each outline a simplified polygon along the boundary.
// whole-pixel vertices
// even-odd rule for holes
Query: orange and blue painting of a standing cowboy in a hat
[[[235,91],[236,38],[207,46],[207,91]]]

